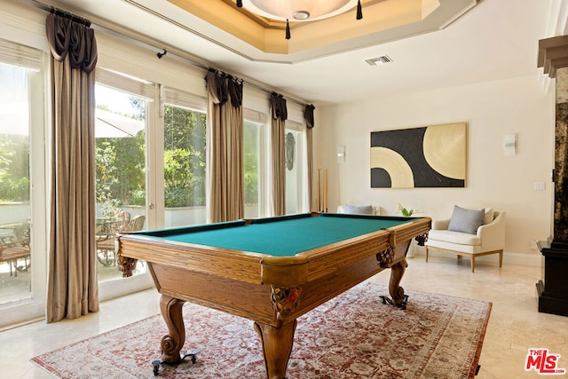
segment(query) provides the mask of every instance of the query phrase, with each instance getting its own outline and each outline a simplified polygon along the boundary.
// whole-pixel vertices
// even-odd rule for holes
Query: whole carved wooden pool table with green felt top
[[[308,213],[125,233],[116,251],[123,270],[146,261],[162,294],[163,362],[181,359],[182,306],[192,302],[253,320],[273,379],[285,376],[305,312],[386,268],[400,304],[406,252],[430,225],[430,217]]]

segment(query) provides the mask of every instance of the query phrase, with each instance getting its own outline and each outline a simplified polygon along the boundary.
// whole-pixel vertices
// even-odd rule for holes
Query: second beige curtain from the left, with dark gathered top
[[[209,223],[244,217],[242,83],[209,70],[207,114],[207,216]]]

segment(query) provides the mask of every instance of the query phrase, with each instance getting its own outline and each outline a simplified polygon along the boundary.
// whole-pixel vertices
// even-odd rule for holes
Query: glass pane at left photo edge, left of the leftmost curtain
[[[0,63],[0,304],[32,297],[28,74]]]

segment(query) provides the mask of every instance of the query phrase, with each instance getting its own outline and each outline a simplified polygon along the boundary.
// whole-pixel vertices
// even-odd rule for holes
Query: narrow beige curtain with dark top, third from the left
[[[286,214],[286,119],[288,109],[282,95],[271,94],[272,201],[271,216]]]

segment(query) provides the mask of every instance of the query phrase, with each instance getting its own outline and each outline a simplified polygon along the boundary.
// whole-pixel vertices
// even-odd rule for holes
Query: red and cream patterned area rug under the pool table
[[[408,291],[406,310],[382,303],[387,288],[362,283],[298,319],[287,378],[471,378],[491,303]],[[265,378],[252,321],[184,305],[186,359],[162,378]],[[160,315],[33,359],[62,378],[152,378],[168,329]]]

